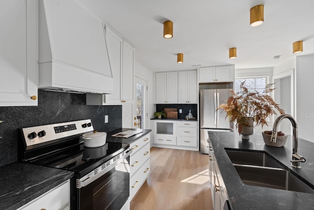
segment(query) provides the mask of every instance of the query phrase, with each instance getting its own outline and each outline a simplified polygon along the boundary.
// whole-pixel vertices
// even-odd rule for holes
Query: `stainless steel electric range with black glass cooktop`
[[[71,179],[72,210],[119,210],[128,200],[128,144],[106,142],[84,147],[82,135],[93,132],[91,120],[22,128],[23,161],[75,172]]]

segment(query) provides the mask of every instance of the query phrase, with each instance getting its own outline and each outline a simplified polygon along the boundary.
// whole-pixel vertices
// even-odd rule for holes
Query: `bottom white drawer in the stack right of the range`
[[[141,187],[143,182],[148,177],[150,169],[150,159],[148,159],[140,169],[130,179],[130,200],[133,198],[137,190]]]

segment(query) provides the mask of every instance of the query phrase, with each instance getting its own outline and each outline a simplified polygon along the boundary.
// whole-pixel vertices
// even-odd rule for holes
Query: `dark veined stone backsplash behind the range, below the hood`
[[[122,106],[87,106],[85,94],[38,90],[38,106],[0,107],[0,166],[17,161],[23,145],[19,128],[91,119],[98,131],[122,127]],[[105,123],[108,115],[108,123]]]

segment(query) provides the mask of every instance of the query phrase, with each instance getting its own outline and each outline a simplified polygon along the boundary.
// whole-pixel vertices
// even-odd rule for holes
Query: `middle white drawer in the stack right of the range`
[[[150,157],[150,144],[146,144],[135,154],[133,152],[130,156],[130,177],[144,164],[144,162]]]

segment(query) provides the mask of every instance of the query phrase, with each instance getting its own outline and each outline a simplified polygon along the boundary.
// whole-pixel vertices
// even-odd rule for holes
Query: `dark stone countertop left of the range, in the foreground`
[[[57,185],[73,172],[14,162],[0,167],[0,210],[16,210]]]

